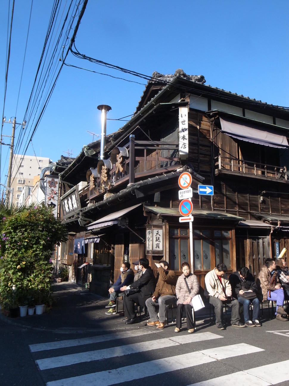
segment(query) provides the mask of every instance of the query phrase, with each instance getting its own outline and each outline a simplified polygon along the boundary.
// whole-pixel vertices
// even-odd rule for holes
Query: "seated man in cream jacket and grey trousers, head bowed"
[[[231,325],[234,327],[245,327],[240,322],[239,301],[232,298],[232,289],[226,272],[227,266],[225,264],[218,264],[216,268],[205,276],[204,295],[209,298],[210,304],[215,308],[218,330],[225,329],[222,323],[223,302],[226,302],[227,306],[232,307]]]

